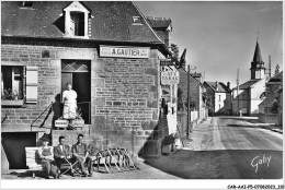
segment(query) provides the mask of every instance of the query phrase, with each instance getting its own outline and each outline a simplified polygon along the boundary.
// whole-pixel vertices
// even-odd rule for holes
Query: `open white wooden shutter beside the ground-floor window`
[[[26,103],[37,103],[37,67],[26,67]]]

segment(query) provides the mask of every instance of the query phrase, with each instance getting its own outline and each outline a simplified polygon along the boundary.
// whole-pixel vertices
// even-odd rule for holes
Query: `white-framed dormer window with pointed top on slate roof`
[[[88,19],[90,11],[75,1],[65,11],[65,36],[88,38]]]

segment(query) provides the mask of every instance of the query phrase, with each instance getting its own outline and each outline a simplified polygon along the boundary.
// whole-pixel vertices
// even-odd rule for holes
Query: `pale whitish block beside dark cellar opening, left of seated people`
[[[35,177],[36,170],[43,170],[37,150],[38,147],[25,147],[26,166],[32,171],[33,177]]]

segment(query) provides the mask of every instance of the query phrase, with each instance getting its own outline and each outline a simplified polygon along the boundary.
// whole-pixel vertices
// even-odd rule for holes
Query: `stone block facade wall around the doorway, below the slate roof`
[[[158,50],[151,49],[149,59],[115,59],[99,58],[98,47],[90,41],[4,39],[2,61],[38,67],[37,104],[2,108],[5,129],[19,129],[14,127],[20,124],[29,130],[32,121],[61,93],[61,59],[79,59],[91,61],[91,124],[82,131],[54,130],[54,144],[61,134],[73,143],[82,132],[87,142],[98,147],[123,146],[137,154],[141,150],[147,152],[147,141],[163,138],[167,127],[158,124]],[[44,117],[36,124],[43,123]],[[52,118],[53,112],[45,121],[46,127],[50,128]]]

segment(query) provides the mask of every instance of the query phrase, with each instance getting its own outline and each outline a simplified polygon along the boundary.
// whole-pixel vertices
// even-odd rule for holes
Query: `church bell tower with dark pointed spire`
[[[259,39],[256,40],[253,60],[251,61],[251,80],[261,80],[265,78],[265,67],[262,60]]]

